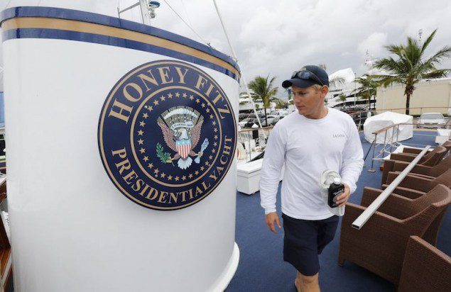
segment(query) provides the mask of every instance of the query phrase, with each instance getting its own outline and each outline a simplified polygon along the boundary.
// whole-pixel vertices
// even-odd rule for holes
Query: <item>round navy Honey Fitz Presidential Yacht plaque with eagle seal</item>
[[[149,62],[109,92],[99,118],[102,163],[127,198],[157,210],[192,206],[234,159],[237,127],[226,94],[180,61]]]

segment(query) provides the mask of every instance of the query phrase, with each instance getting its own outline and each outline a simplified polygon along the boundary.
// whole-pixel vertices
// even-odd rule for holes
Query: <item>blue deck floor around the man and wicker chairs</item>
[[[369,142],[362,137],[364,153],[369,149]],[[435,132],[415,131],[413,138],[403,141],[410,145],[435,146]],[[366,159],[366,168],[357,184],[357,191],[349,201],[360,203],[364,186],[379,187],[381,171],[379,162],[374,163],[376,172],[367,172],[371,164],[371,155]],[[281,214],[280,185],[278,192],[278,214]],[[341,220],[340,220],[341,224]],[[338,266],[339,228],[335,239],[320,256],[320,286],[322,291],[395,291],[388,281],[365,269],[346,262]],[[259,193],[247,196],[237,193],[237,231],[236,242],[240,250],[239,266],[227,291],[296,291],[293,285],[295,269],[283,262],[283,230],[274,235],[264,222],[263,209],[260,207]],[[438,248],[451,254],[451,212],[448,210],[442,222],[438,237]]]

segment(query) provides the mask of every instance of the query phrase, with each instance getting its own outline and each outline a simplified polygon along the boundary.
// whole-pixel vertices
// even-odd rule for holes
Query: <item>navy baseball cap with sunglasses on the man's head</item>
[[[329,76],[325,69],[315,65],[307,65],[293,72],[291,79],[282,82],[283,88],[288,88],[292,85],[306,88],[313,84],[329,86]]]

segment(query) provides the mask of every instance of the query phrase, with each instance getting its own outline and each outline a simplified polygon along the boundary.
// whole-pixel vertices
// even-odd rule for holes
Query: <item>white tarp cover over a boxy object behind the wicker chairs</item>
[[[388,127],[389,125],[394,125],[398,123],[413,123],[413,117],[408,115],[403,115],[402,113],[392,113],[390,111],[386,111],[384,113],[380,113],[376,116],[371,116],[365,120],[364,123],[364,133],[365,139],[368,142],[373,142],[374,134],[376,130],[380,130],[381,128]],[[413,125],[399,125],[399,134],[396,133],[395,130],[393,142],[396,141],[396,136],[398,135],[398,141],[403,141],[410,139],[413,137]],[[391,135],[393,135],[393,128],[387,131],[387,135],[385,137],[385,133],[380,133],[377,135],[376,143],[382,144],[384,143],[384,139],[386,142],[391,142]]]

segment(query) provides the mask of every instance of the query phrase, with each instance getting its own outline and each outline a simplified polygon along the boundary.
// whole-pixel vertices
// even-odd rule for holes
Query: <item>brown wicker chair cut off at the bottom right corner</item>
[[[398,292],[451,290],[451,257],[411,236],[404,256]]]

